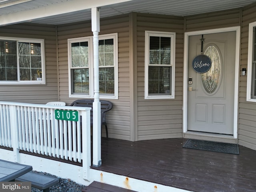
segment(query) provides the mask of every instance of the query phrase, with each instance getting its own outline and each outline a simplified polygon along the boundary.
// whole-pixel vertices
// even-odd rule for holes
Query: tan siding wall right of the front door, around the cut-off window
[[[240,69],[247,69],[249,23],[255,22],[256,4],[245,7],[242,12]],[[247,75],[240,76],[238,143],[256,150],[256,103],[246,102]]]

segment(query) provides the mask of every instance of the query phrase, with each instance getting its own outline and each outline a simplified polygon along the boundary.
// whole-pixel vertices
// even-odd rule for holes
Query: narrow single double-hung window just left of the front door
[[[175,33],[145,31],[145,99],[174,98]]]

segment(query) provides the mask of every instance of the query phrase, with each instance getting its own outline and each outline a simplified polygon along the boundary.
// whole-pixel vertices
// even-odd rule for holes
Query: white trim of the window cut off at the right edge
[[[253,28],[256,27],[256,22],[249,24],[248,34],[248,64],[247,64],[247,90],[246,90],[246,101],[256,102],[256,99],[251,98],[252,91],[252,51],[253,51]]]

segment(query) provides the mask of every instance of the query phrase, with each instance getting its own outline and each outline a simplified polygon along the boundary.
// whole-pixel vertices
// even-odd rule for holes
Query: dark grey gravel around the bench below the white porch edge
[[[50,187],[50,192],[81,192],[81,190],[85,188],[84,185],[78,184],[70,179],[60,178],[46,172],[37,172],[37,171],[33,171],[33,172],[59,179],[58,184]],[[42,192],[42,190],[32,187],[31,192]]]

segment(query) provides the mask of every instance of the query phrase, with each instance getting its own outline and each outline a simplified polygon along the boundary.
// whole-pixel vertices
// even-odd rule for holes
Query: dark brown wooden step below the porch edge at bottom
[[[136,192],[136,191],[94,181],[90,185],[86,186],[82,190],[82,192]]]

